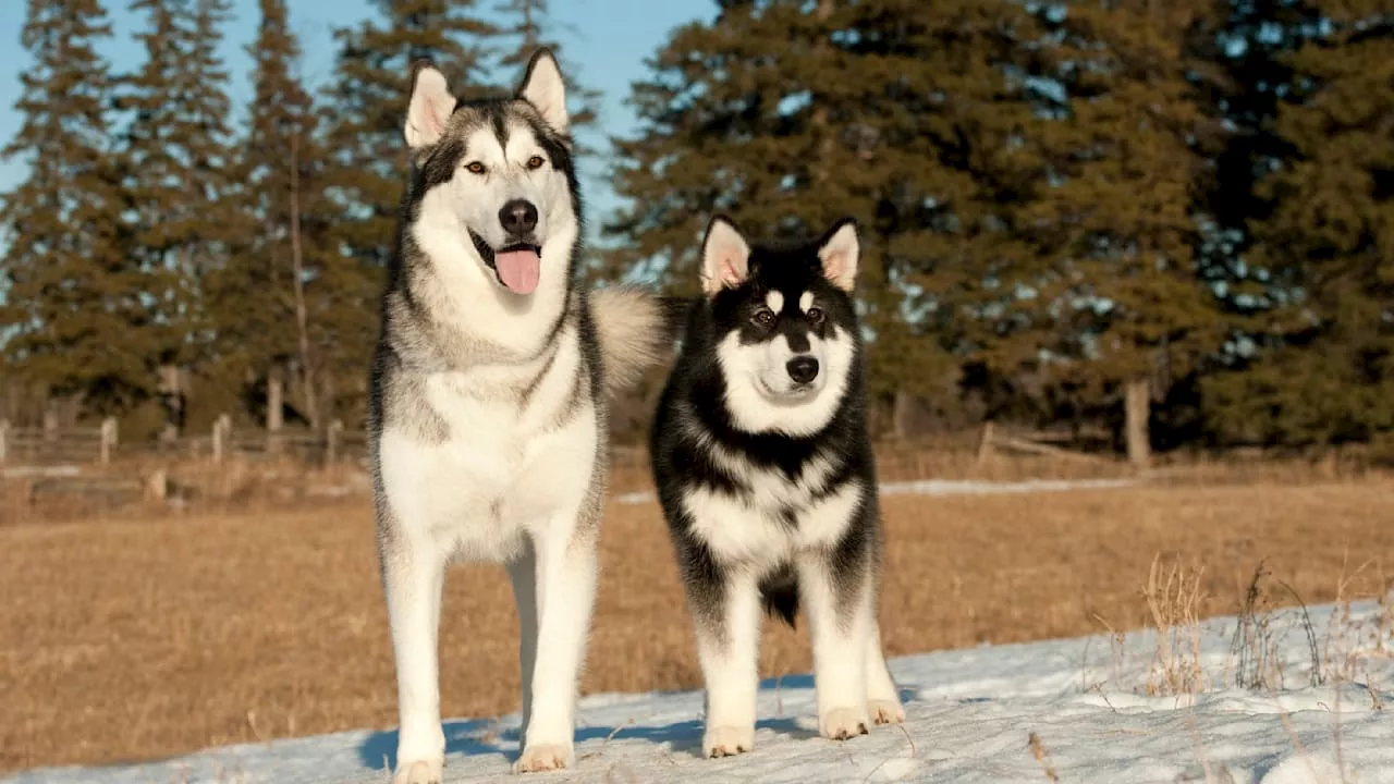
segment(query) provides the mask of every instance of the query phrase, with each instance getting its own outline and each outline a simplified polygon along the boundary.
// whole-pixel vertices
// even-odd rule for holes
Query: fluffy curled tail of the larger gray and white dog
[[[637,286],[591,292],[591,318],[611,393],[633,386],[644,371],[668,359],[687,319],[690,301]]]

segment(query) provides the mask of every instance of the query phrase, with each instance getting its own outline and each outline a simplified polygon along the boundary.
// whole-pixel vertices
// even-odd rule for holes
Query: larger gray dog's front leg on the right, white
[[[514,770],[576,764],[576,696],[595,604],[598,512],[553,519],[533,536],[537,565],[537,656],[523,753]]]

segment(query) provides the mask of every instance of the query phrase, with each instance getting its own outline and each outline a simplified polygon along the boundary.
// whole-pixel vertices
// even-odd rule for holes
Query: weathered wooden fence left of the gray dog
[[[112,463],[117,459],[160,458],[213,460],[289,459],[311,465],[361,462],[367,434],[333,421],[323,432],[309,430],[233,430],[219,417],[208,435],[121,442],[116,419],[96,427],[14,427],[0,420],[0,465]]]

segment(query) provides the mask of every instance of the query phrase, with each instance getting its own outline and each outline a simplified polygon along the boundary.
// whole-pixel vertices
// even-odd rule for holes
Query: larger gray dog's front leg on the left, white
[[[429,537],[381,526],[379,561],[397,664],[397,769],[393,784],[438,784],[445,766],[436,640],[445,557]]]

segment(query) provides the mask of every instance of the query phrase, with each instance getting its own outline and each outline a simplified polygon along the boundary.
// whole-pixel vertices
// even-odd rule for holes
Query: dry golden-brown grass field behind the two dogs
[[[1391,587],[1388,480],[896,495],[884,513],[891,656],[1139,628],[1158,555],[1203,569],[1203,614],[1236,611],[1260,561],[1308,603]],[[602,548],[584,691],[700,685],[657,506],[612,506]],[[3,527],[0,596],[0,770],[396,723],[367,499]],[[441,643],[446,716],[517,709],[500,569],[452,572]],[[761,661],[806,671],[804,632],[768,625]]]

